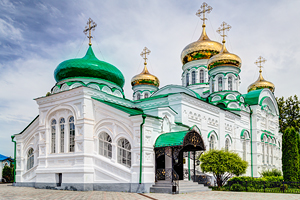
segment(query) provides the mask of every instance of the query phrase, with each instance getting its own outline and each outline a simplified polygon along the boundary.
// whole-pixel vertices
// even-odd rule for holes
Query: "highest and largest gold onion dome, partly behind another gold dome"
[[[202,27],[200,38],[196,42],[187,45],[181,52],[182,64],[193,60],[209,59],[221,51],[222,44],[210,40],[206,35],[205,24]]]

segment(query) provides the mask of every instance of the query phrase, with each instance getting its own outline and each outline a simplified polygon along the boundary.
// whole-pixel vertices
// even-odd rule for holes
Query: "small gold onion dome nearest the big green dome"
[[[153,85],[155,87],[159,87],[159,80],[156,76],[152,75],[149,73],[148,69],[147,69],[147,63],[144,63],[144,70],[134,76],[131,79],[131,85],[132,86],[136,86],[136,85]]]

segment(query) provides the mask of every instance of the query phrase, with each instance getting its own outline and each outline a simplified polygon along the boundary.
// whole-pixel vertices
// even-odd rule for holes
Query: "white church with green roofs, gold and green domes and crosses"
[[[222,43],[210,40],[204,14],[211,8],[201,8],[202,34],[181,53],[182,85],[159,87],[145,48],[144,70],[131,80],[132,99],[124,96],[122,72],[94,55],[96,24],[89,19],[86,55],[57,66],[51,93],[35,99],[39,115],[12,136],[15,185],[149,192],[159,180],[185,179],[195,152],[210,149],[238,153],[248,162],[247,176],[281,170],[275,87],[260,70],[248,92],[239,91],[242,61],[224,39],[230,26],[223,22],[219,29]],[[257,64],[263,62],[260,57]]]

